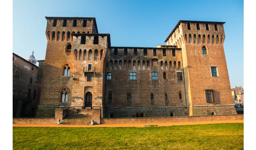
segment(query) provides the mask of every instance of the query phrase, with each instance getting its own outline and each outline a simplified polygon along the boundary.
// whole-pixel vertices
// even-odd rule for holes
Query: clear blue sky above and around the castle
[[[45,59],[45,16],[95,17],[99,33],[110,33],[111,46],[156,47],[165,44],[179,20],[224,24],[224,50],[231,87],[244,85],[243,1],[18,1],[13,0],[13,52],[27,58],[34,49]]]

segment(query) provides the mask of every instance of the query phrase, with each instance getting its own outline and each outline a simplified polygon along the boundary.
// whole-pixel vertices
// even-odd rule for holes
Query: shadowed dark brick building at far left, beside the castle
[[[35,60],[33,55],[29,58]],[[31,60],[31,59],[29,59]],[[13,117],[35,117],[39,104],[37,69],[35,62],[12,54],[13,61]]]

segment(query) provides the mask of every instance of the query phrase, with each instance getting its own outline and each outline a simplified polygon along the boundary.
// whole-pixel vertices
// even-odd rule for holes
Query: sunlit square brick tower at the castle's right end
[[[165,40],[182,48],[189,116],[237,114],[223,48],[224,23],[180,20]]]

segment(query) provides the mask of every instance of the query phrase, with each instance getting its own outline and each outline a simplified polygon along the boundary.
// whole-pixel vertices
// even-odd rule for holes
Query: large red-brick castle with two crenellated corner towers
[[[37,117],[54,117],[56,108],[92,115],[99,110],[94,115],[101,118],[237,114],[223,48],[225,22],[180,20],[166,45],[126,47],[111,46],[95,18],[45,18]]]

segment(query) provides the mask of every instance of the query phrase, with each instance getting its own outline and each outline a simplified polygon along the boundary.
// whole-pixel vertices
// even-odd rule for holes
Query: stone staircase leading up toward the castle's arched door
[[[86,114],[66,115],[60,123],[61,125],[91,125],[92,115],[86,115]]]

